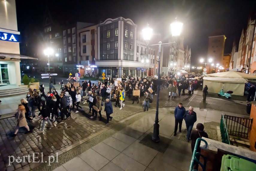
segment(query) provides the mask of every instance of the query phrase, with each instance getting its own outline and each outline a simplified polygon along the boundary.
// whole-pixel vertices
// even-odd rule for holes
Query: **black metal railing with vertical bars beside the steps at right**
[[[224,115],[224,118],[226,120],[229,135],[248,138],[248,133],[251,129],[253,119],[229,115]]]

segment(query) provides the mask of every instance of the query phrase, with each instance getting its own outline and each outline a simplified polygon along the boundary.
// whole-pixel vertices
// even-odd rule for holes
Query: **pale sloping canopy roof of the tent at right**
[[[237,72],[237,71],[227,71],[227,72],[221,72],[221,73],[211,73],[211,74],[207,74],[205,76],[225,77],[225,78],[256,79],[255,75],[241,73],[241,72]]]

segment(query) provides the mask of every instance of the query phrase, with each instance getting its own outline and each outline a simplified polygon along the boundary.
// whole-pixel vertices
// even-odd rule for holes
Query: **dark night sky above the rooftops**
[[[130,18],[138,31],[146,27],[154,34],[161,34],[166,43],[170,34],[170,23],[178,20],[184,23],[184,46],[191,48],[191,65],[207,56],[208,36],[225,35],[225,52],[232,50],[233,40],[239,42],[243,28],[246,28],[249,14],[256,10],[256,0],[16,0],[18,31],[43,31],[43,19],[49,8],[53,20],[62,19],[98,24],[107,18]]]

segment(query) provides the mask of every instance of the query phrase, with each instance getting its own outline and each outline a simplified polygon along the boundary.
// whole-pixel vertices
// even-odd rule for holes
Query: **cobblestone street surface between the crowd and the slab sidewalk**
[[[156,107],[156,97],[153,98],[153,103],[150,104],[151,109],[155,109]],[[16,165],[8,165],[9,158],[8,156],[24,156],[32,153],[41,153],[43,152],[43,157],[47,157],[49,155],[53,155],[56,152],[60,152],[61,150],[66,149],[69,146],[72,146],[78,143],[81,140],[84,140],[87,145],[80,149],[81,147],[77,146],[72,151],[70,151],[71,157],[66,157],[66,160],[70,160],[72,156],[80,154],[87,148],[95,145],[102,141],[102,139],[109,137],[114,134],[116,131],[124,128],[126,125],[131,123],[136,117],[128,119],[125,123],[121,123],[120,121],[128,118],[129,116],[133,116],[138,112],[143,111],[142,107],[142,98],[140,98],[140,103],[131,104],[132,101],[128,98],[125,98],[125,107],[122,110],[119,110],[119,107],[113,107],[113,121],[110,122],[109,125],[105,125],[106,116],[103,114],[103,121],[93,121],[89,119],[91,116],[87,114],[89,111],[88,104],[82,104],[84,107],[84,111],[79,113],[72,112],[71,119],[64,121],[64,124],[56,124],[54,123],[54,128],[51,130],[47,130],[45,128],[44,133],[37,133],[38,127],[40,124],[40,119],[34,118],[29,126],[34,128],[33,133],[24,134],[25,130],[20,129],[16,137],[10,137],[11,133],[13,133],[13,128],[16,125],[16,120],[13,117],[5,118],[0,120],[0,170],[30,170],[36,168],[36,170],[42,169],[42,167],[34,165],[34,163],[28,164],[28,158],[25,158],[27,162],[18,164],[14,162]],[[222,110],[227,112],[234,113],[245,113],[246,105],[236,104],[230,101],[218,101],[213,98],[207,98],[205,103],[202,102],[202,96],[200,95],[192,95],[192,97],[188,97],[188,95],[176,98],[168,98],[168,92],[165,88],[160,91],[160,103],[159,107],[175,107],[178,103],[182,102],[185,107],[194,106],[206,109],[214,109],[214,110]],[[103,110],[104,111],[104,110]],[[161,112],[161,111],[159,111]],[[146,114],[146,113],[145,113]],[[37,114],[36,114],[37,115]],[[7,116],[10,116],[7,115]],[[4,118],[3,116],[2,118]],[[48,125],[46,125],[47,127]],[[112,128],[112,129],[110,129]],[[96,136],[101,134],[102,136]],[[87,138],[87,139],[86,139]],[[89,144],[89,145],[88,145]],[[63,154],[64,155],[64,154]],[[61,157],[60,157],[61,158]],[[54,167],[55,168],[55,167]],[[52,168],[48,168],[51,170]]]

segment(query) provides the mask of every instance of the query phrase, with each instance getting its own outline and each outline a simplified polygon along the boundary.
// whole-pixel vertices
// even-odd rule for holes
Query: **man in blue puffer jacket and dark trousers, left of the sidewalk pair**
[[[174,110],[174,117],[175,117],[175,127],[174,127],[174,136],[177,135],[178,124],[179,124],[179,132],[181,132],[181,125],[183,121],[183,116],[186,112],[186,109],[182,106],[182,103],[179,103]]]

